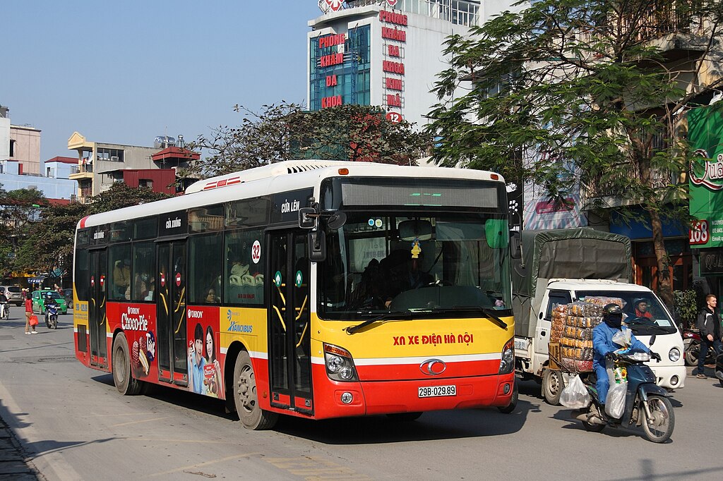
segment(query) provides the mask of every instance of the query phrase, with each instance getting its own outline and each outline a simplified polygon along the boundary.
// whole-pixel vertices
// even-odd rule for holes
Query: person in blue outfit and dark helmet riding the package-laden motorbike
[[[610,388],[610,381],[605,368],[605,356],[625,347],[612,342],[612,337],[617,332],[625,330],[628,330],[628,326],[623,326],[623,309],[615,303],[607,304],[603,308],[602,322],[592,330],[592,345],[595,351],[592,367],[597,376],[595,387],[602,407],[604,407],[607,391]],[[630,332],[630,349],[640,349],[649,352],[651,356],[656,356],[650,352],[646,345],[638,341],[632,332]]]

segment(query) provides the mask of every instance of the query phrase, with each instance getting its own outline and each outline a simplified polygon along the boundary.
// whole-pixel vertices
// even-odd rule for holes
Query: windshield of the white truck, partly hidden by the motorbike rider
[[[677,331],[675,322],[653,293],[611,290],[577,291],[576,294],[579,300],[593,296],[609,298],[610,302],[615,303],[622,301],[623,322],[638,336],[672,334]]]

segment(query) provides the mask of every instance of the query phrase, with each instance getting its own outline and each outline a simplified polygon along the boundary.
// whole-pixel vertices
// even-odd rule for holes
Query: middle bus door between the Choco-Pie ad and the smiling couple
[[[186,241],[158,244],[157,274],[158,379],[187,386]]]

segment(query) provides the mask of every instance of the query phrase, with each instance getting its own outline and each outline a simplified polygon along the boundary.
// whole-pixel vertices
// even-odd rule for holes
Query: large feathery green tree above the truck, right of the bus
[[[701,17],[708,30],[698,30]],[[453,35],[429,114],[427,131],[440,139],[432,157],[534,181],[553,200],[579,186],[587,209],[607,207],[607,196],[641,205],[665,277],[660,217],[688,222],[682,114],[723,86],[723,76],[698,77],[721,66],[722,18],[719,0],[539,0]],[[660,50],[668,34],[696,59]]]

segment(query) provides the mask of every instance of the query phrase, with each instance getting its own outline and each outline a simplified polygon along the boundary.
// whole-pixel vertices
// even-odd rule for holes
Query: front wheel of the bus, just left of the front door
[[[251,358],[246,351],[239,352],[234,367],[234,403],[244,428],[252,430],[271,429],[278,414],[262,410],[256,393],[256,376]]]

